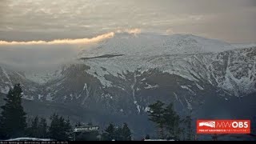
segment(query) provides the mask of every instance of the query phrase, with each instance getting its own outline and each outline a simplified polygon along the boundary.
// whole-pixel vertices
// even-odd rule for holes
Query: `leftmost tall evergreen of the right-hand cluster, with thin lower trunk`
[[[154,122],[155,124],[157,124],[158,128],[160,129],[159,130],[159,138],[164,138],[164,124],[165,124],[165,118],[164,118],[164,112],[165,112],[165,109],[164,109],[164,106],[165,104],[161,101],[157,101],[153,104],[151,104],[149,107],[150,107],[150,110],[148,111],[149,113],[149,120]]]

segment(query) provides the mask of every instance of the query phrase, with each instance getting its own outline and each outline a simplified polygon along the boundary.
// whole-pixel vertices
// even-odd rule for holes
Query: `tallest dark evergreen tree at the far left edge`
[[[2,113],[0,119],[0,132],[2,138],[18,138],[25,134],[26,113],[22,107],[22,87],[20,84],[14,85],[10,89],[4,106],[1,106]]]

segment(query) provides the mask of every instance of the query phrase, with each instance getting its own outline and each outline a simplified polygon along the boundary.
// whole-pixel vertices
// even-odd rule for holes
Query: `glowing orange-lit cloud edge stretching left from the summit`
[[[1,45],[76,45],[76,44],[89,44],[94,42],[100,42],[102,40],[113,38],[114,32],[110,32],[107,34],[102,34],[94,38],[78,38],[78,39],[56,39],[53,41],[30,41],[30,42],[6,42],[0,41]]]

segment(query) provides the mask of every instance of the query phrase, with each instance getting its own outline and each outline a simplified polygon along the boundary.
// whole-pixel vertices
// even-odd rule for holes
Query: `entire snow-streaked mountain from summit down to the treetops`
[[[63,66],[43,84],[2,66],[0,90],[6,93],[21,82],[24,98],[116,114],[145,113],[157,99],[194,110],[207,99],[229,101],[254,94],[255,66],[254,44],[181,34],[115,34],[82,50],[77,64]]]

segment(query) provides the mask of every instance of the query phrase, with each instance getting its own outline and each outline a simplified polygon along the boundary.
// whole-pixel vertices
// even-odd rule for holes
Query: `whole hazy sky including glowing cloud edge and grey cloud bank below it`
[[[56,69],[118,30],[256,43],[256,0],[0,0],[0,66]]]

